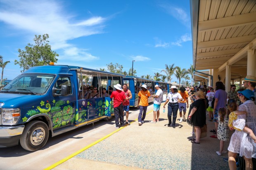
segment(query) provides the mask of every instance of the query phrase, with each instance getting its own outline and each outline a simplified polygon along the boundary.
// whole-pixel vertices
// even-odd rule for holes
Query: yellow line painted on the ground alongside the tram
[[[147,112],[146,114],[149,114],[149,113],[151,113],[151,112],[153,112],[153,110]],[[135,119],[135,120],[133,120],[133,122],[131,122],[131,123],[134,123],[134,122],[137,121],[137,120],[138,120],[138,119]],[[44,170],[51,170],[51,169],[55,168],[56,166],[58,166],[58,165],[64,163],[65,161],[69,160],[70,158],[73,158],[73,157],[76,156],[77,154],[80,154],[82,151],[85,151],[86,149],[92,147],[93,145],[99,143],[100,141],[106,139],[107,137],[113,135],[114,133],[118,132],[119,130],[121,130],[121,129],[125,128],[125,127],[126,127],[126,126],[121,127],[121,128],[119,128],[119,129],[116,129],[114,132],[111,132],[111,133],[109,133],[108,135],[106,135],[106,136],[100,138],[99,140],[96,140],[95,142],[92,142],[91,144],[88,144],[86,147],[84,147],[84,148],[82,148],[82,149],[76,151],[75,153],[73,153],[73,154],[67,156],[66,158],[63,158],[62,160],[60,160],[60,161],[58,161],[58,162],[56,162],[56,163],[50,165],[49,167],[45,168]]]

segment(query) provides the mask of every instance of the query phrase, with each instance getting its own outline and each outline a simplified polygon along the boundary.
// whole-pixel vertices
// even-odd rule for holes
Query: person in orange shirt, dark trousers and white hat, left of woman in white
[[[144,123],[144,119],[146,117],[147,112],[147,106],[149,105],[147,98],[149,98],[150,96],[150,92],[147,90],[147,85],[143,84],[141,87],[142,90],[138,93],[138,108],[140,108],[140,113],[138,116],[139,126],[142,125],[142,123]]]

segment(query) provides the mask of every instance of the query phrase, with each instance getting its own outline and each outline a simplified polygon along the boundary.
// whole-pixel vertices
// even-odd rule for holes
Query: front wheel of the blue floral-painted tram
[[[36,135],[40,140],[35,140]],[[21,147],[27,151],[37,151],[45,146],[49,137],[49,128],[43,121],[29,122],[20,137]]]

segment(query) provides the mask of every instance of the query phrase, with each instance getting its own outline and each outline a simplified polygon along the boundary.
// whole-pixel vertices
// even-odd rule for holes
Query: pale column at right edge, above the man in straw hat
[[[247,75],[256,76],[256,51],[254,49],[247,51]]]

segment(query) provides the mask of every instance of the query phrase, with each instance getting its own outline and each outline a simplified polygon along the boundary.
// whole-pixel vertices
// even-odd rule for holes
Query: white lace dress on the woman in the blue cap
[[[247,114],[237,115],[237,119],[233,121],[233,126],[244,129],[247,125],[256,134],[256,105],[252,100],[245,101],[239,106],[239,111],[246,111]],[[228,150],[240,154],[247,158],[256,158],[256,143],[244,131],[235,130],[233,133]]]

